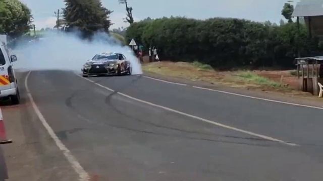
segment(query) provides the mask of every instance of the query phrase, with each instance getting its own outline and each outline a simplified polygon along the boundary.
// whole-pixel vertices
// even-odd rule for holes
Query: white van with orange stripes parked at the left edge
[[[16,55],[10,55],[8,49],[0,43],[0,98],[10,98],[12,104],[19,104],[20,95],[12,62]]]

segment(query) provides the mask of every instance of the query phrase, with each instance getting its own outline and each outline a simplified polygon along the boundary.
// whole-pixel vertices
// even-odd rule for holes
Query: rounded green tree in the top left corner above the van
[[[17,38],[29,32],[32,15],[18,0],[0,0],[0,34]]]

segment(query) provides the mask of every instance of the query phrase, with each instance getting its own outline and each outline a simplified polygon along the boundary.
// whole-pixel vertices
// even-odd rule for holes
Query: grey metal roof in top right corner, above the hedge
[[[301,0],[297,3],[292,16],[323,16],[323,0]]]

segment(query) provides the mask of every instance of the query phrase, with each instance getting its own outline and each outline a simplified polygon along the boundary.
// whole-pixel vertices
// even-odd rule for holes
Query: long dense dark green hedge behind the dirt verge
[[[277,26],[248,20],[212,18],[146,19],[133,23],[126,33],[138,44],[156,46],[163,59],[201,63],[212,67],[294,65],[294,58],[322,51],[317,39],[307,38],[305,25],[288,23]]]

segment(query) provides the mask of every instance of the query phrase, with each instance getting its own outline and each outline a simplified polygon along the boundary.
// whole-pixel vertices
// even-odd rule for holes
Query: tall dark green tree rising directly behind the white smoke
[[[102,6],[100,0],[65,0],[64,18],[66,30],[79,30],[84,37],[97,31],[109,33],[112,11]]]

